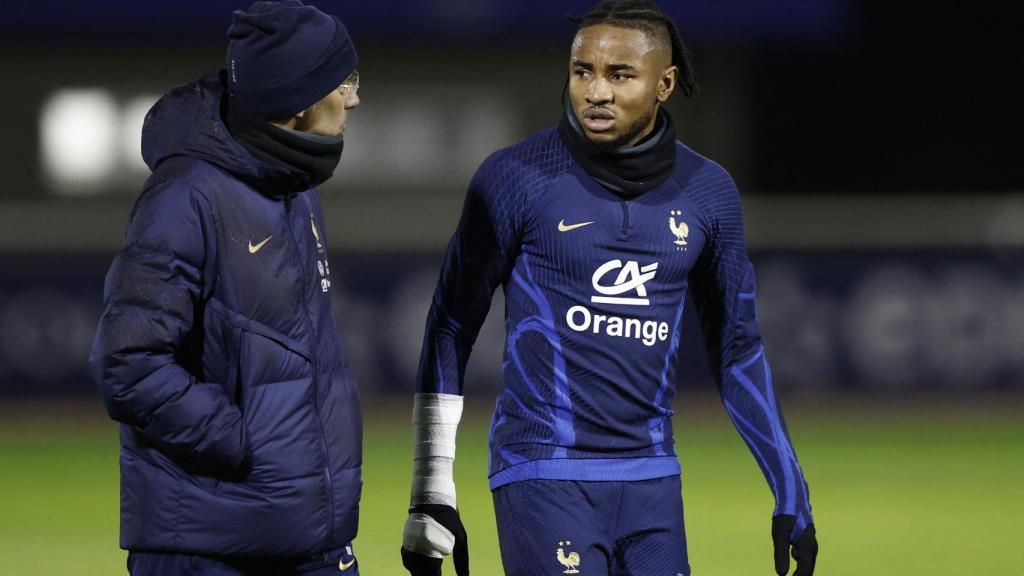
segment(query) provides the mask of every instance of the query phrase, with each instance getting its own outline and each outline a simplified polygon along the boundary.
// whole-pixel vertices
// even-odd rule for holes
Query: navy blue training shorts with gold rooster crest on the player
[[[678,476],[495,490],[507,576],[690,576]]]

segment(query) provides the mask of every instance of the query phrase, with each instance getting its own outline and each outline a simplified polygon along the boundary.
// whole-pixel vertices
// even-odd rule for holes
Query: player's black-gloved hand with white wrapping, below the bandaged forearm
[[[455,573],[469,576],[469,545],[459,510],[420,504],[409,510],[401,538],[401,564],[412,576],[441,576],[441,559],[452,554]]]

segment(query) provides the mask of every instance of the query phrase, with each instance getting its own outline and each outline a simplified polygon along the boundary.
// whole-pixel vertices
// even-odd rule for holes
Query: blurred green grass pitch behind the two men
[[[817,574],[936,576],[1024,572],[1021,404],[893,403],[786,411],[811,486]],[[880,403],[881,404],[881,403]],[[412,398],[368,402],[355,551],[364,576],[403,574]],[[475,406],[475,404],[474,404]],[[901,407],[902,406],[902,407]],[[118,540],[116,426],[99,403],[0,409],[0,574],[126,574]],[[773,574],[772,500],[720,406],[683,399],[676,417],[690,562],[696,576]],[[501,575],[486,488],[487,409],[459,431],[456,482],[472,573]],[[559,574],[555,543],[538,549]],[[445,563],[445,575],[454,574]],[[582,569],[585,567],[581,567]],[[583,576],[586,571],[581,570]]]

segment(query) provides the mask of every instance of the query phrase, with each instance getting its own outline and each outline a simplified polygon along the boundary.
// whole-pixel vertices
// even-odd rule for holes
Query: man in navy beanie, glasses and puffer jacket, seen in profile
[[[90,362],[121,422],[132,574],[357,574],[361,416],[314,187],[359,104],[341,22],[236,11],[224,70],[167,93]]]

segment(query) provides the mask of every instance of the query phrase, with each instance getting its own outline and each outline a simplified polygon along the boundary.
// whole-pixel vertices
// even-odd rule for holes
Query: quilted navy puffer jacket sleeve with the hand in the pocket
[[[246,455],[242,414],[223,386],[185,368],[198,364],[203,206],[175,184],[140,197],[106,276],[90,364],[113,419],[178,461],[231,470]]]

